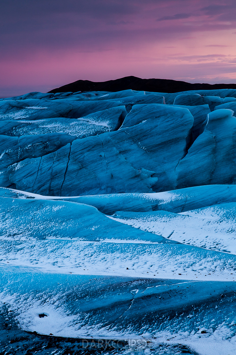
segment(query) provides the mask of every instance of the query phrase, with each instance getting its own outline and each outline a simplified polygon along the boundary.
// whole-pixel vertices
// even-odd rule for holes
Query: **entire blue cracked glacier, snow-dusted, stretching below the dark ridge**
[[[0,354],[235,354],[235,111],[233,89],[0,99]]]

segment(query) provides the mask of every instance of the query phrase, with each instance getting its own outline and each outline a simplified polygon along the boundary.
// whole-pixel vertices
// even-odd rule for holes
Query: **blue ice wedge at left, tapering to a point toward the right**
[[[136,233],[86,204],[6,197],[1,197],[0,203],[1,239],[99,241],[108,238],[172,243],[154,234]]]

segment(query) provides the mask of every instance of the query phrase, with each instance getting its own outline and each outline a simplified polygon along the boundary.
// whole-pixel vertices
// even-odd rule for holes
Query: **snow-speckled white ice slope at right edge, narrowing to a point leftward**
[[[171,240],[236,254],[236,203],[182,213],[116,212],[115,220]]]

